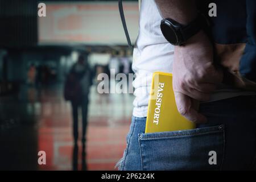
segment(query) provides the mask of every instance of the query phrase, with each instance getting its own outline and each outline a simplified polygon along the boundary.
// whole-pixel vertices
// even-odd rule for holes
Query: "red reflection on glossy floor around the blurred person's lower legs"
[[[109,127],[88,127],[86,142],[86,163],[88,170],[114,170],[123,155],[126,126],[115,129]],[[79,143],[78,164],[81,165],[82,144]],[[47,165],[43,170],[72,170],[73,138],[71,128],[40,128],[38,150],[46,151]],[[81,167],[79,167],[81,169]]]

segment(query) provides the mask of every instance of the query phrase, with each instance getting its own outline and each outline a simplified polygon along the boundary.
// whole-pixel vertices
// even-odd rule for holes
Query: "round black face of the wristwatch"
[[[161,31],[163,33],[163,36],[166,38],[166,40],[168,40],[168,42],[170,42],[173,45],[178,45],[179,44],[179,40],[177,38],[177,34],[176,31],[174,29],[174,27],[172,27],[171,23],[163,20],[161,22]]]

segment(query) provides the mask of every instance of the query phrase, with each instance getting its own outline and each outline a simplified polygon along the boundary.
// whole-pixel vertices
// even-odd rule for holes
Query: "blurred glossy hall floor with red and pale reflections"
[[[71,105],[61,85],[22,86],[18,96],[1,97],[0,169],[113,170],[125,148],[133,98],[98,94],[93,86],[83,147],[81,140],[74,146]],[[38,164],[39,151],[46,152],[46,165]]]

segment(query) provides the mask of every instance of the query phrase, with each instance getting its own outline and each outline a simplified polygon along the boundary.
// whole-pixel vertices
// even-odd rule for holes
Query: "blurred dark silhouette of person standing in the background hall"
[[[75,145],[79,138],[78,119],[79,109],[82,111],[82,144],[86,140],[87,113],[89,104],[89,92],[92,85],[92,74],[87,63],[87,58],[79,56],[67,76],[64,87],[65,100],[71,101],[73,116],[73,137]]]

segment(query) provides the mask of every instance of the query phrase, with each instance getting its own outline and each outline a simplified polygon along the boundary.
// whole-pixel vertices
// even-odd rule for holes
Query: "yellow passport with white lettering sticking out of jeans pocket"
[[[195,123],[184,118],[177,110],[172,89],[172,74],[155,72],[148,102],[145,133],[189,130],[195,127]]]

